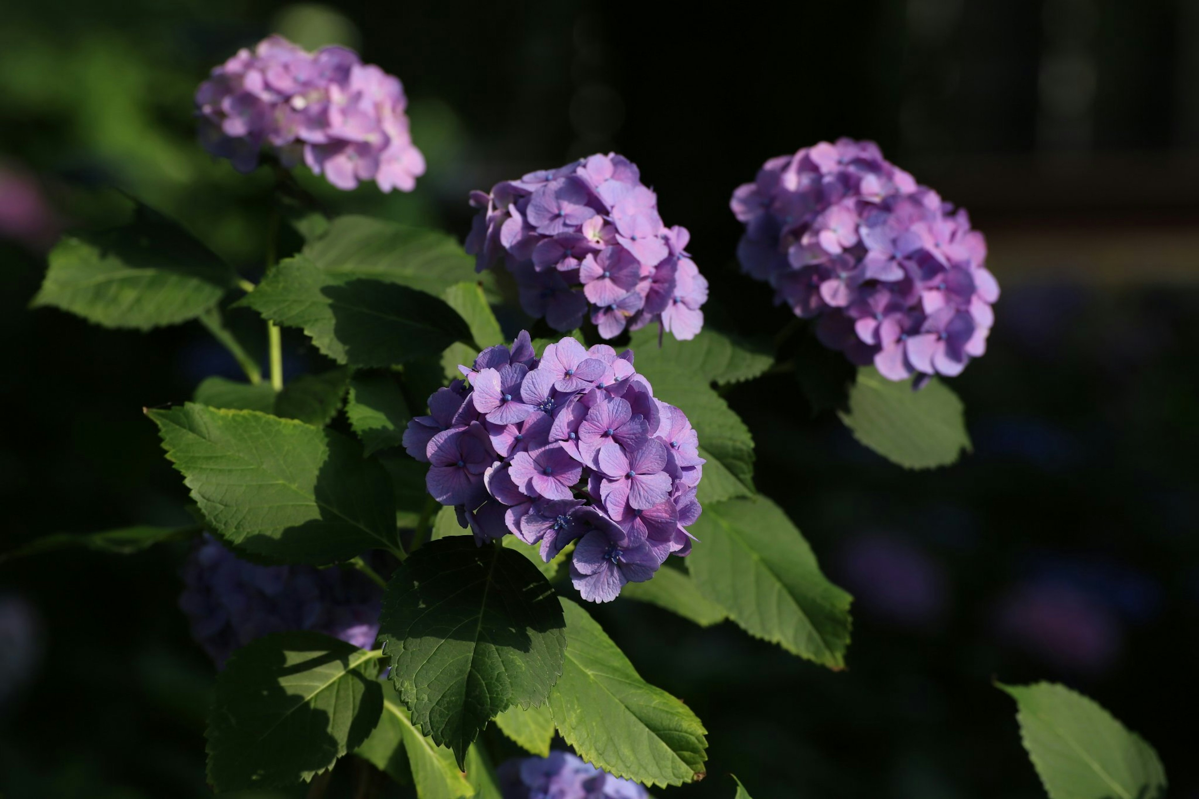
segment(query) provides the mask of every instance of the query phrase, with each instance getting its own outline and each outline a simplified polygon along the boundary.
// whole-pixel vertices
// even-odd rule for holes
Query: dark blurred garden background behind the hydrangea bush
[[[58,232],[180,218],[251,275],[270,176],[194,143],[192,92],[279,31],[399,76],[429,169],[414,194],[305,185],[338,211],[464,235],[471,188],[616,149],[655,186],[730,323],[787,313],[737,274],[728,198],[770,156],[873,138],[970,209],[1004,288],[952,380],[975,451],[904,473],[794,382],[735,390],[759,487],[855,596],[832,673],[725,624],[597,612],[710,731],[667,797],[1043,795],[993,679],[1087,692],[1199,797],[1199,2],[891,0],[682,7],[42,0],[0,26],[0,551],[185,521],[144,405],[235,364],[198,324],[108,331],[26,304]],[[719,313],[719,312],[718,312]],[[769,320],[769,325],[763,320]],[[235,320],[235,324],[239,324]],[[248,324],[241,320],[240,324]],[[763,330],[763,328],[766,328]],[[287,338],[288,370],[311,353]],[[212,669],[176,608],[185,545],[0,565],[0,793],[207,795]]]

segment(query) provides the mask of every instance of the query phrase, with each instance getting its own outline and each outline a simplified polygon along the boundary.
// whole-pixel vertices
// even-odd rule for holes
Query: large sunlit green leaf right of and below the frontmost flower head
[[[832,668],[849,647],[851,597],[820,572],[812,547],[766,497],[707,505],[691,533],[695,587],[747,632]]]

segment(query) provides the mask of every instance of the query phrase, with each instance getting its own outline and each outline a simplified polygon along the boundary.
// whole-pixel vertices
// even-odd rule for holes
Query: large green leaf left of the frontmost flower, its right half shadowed
[[[284,563],[396,545],[391,481],[354,439],[253,410],[147,410],[212,529]]]

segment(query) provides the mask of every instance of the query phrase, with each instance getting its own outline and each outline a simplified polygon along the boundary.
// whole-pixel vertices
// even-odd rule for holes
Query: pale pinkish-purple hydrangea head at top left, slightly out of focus
[[[267,145],[284,166],[302,158],[344,191],[364,180],[385,192],[415,188],[424,156],[409,134],[406,106],[399,79],[353,50],[308,53],[282,36],[239,50],[195,91],[209,152],[251,172]]]

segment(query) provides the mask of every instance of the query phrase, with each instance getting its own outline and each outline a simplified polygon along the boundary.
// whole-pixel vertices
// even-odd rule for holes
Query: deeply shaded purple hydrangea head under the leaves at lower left
[[[363,649],[379,633],[382,590],[357,571],[259,566],[205,534],[182,573],[179,607],[218,668],[270,632],[315,630]]]

